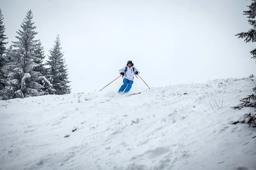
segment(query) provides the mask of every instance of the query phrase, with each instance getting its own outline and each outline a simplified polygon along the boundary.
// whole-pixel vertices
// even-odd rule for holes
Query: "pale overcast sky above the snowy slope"
[[[235,34],[247,31],[250,0],[0,0],[7,40],[32,10],[45,54],[59,34],[72,93],[100,90],[128,60],[149,87],[256,74]],[[118,91],[120,77],[103,91]],[[134,78],[133,88],[148,88]],[[132,89],[133,89],[132,88]],[[131,91],[132,91],[131,89]]]

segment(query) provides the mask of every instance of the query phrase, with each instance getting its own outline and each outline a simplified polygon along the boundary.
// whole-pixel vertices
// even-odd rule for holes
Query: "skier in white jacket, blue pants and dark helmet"
[[[127,65],[119,70],[119,74],[124,77],[124,84],[119,88],[118,93],[122,93],[124,90],[124,93],[128,93],[131,90],[131,85],[134,82],[134,74],[140,74],[140,72],[137,70],[137,68],[134,67],[132,61],[129,60]]]

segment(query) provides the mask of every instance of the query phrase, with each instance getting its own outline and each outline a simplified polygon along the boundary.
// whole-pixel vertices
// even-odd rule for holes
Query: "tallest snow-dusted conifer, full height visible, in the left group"
[[[10,72],[7,86],[4,89],[4,99],[44,94],[41,90],[44,87],[38,83],[44,77],[35,71],[35,68],[39,66],[36,62],[41,59],[35,54],[38,40],[34,39],[38,32],[35,31],[36,26],[33,26],[32,19],[33,14],[29,10],[21,24],[22,30],[17,31],[18,35],[15,36],[18,41],[12,42],[14,45],[8,54],[9,63],[6,70]]]

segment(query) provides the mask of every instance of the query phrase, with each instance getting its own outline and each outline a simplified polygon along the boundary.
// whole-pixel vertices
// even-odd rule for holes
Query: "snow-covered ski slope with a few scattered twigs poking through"
[[[253,87],[229,78],[0,101],[0,170],[256,170],[256,131],[230,124],[256,113],[230,108]]]

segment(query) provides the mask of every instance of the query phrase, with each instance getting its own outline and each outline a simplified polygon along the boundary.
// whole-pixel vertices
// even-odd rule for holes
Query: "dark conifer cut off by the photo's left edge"
[[[3,66],[6,65],[6,45],[8,42],[4,42],[7,39],[4,34],[5,26],[3,25],[3,14],[0,9],[0,90],[2,90],[6,86],[6,75],[3,73]]]

